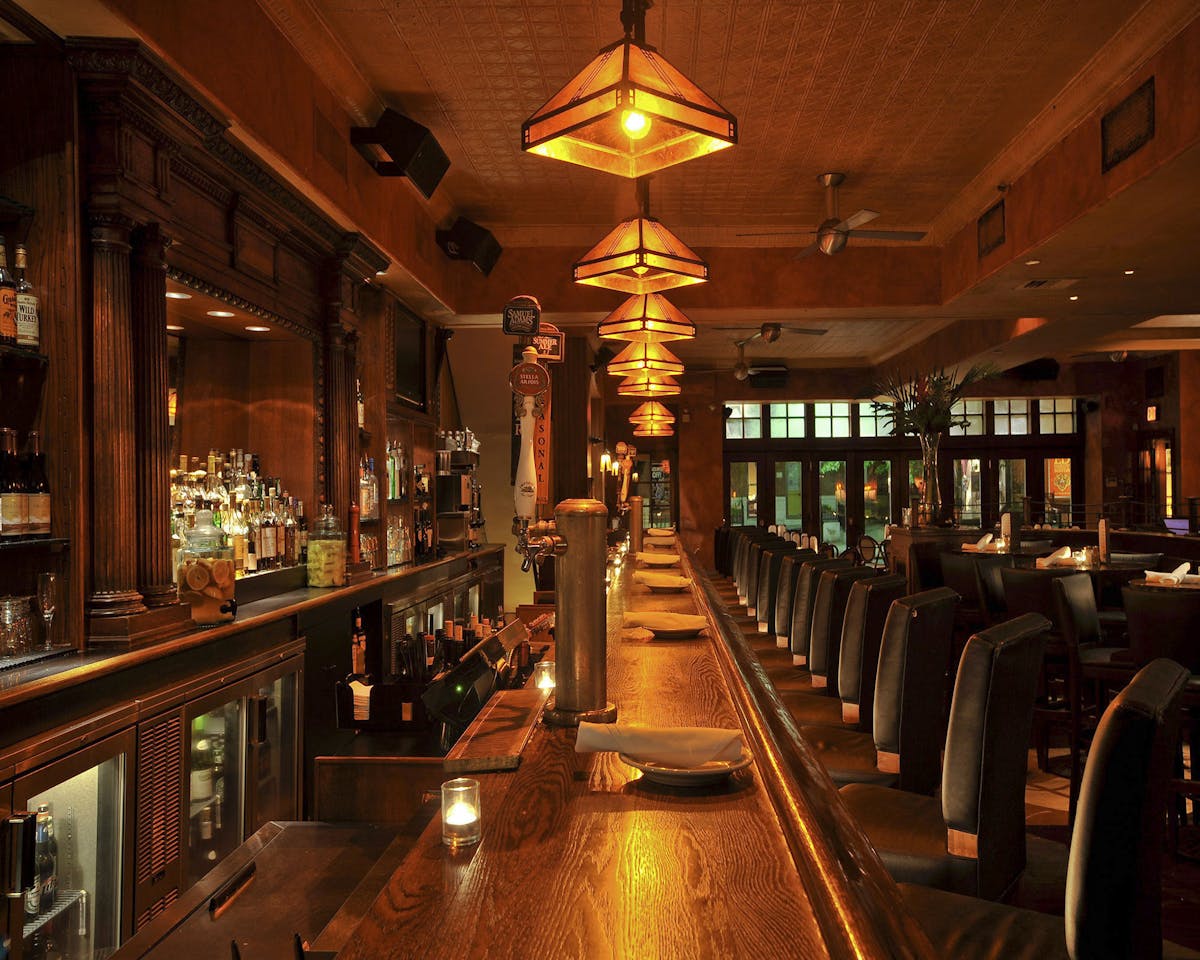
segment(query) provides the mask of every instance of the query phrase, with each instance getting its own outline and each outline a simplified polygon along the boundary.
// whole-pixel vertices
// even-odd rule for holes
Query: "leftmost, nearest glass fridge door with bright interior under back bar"
[[[132,810],[132,732],[110,737],[17,780],[17,810],[36,812],[34,882],[24,901],[20,958],[101,960],[128,932],[126,811]]]

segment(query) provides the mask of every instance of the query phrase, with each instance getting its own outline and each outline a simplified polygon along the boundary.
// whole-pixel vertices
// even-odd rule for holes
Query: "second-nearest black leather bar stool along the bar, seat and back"
[[[1026,744],[1049,625],[1026,613],[967,641],[954,682],[941,799],[872,784],[841,788],[898,881],[996,900],[1025,869]],[[875,707],[877,720],[877,688]]]

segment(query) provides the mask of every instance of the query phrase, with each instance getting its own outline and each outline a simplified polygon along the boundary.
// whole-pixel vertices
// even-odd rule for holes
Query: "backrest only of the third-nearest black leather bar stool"
[[[888,611],[875,680],[877,766],[898,786],[932,793],[941,773],[946,661],[959,595],[949,587],[896,600]]]

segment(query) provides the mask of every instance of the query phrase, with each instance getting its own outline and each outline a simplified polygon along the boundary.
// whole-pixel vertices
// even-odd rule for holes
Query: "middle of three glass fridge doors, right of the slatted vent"
[[[185,888],[242,841],[245,698],[222,690],[190,704],[186,721]]]

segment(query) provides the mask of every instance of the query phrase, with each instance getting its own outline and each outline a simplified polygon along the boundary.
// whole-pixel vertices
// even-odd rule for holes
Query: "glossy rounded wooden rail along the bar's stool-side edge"
[[[712,582],[690,558],[685,564],[696,601],[720,634],[713,643],[716,659],[829,955],[932,956],[899,888],[842,805]]]

